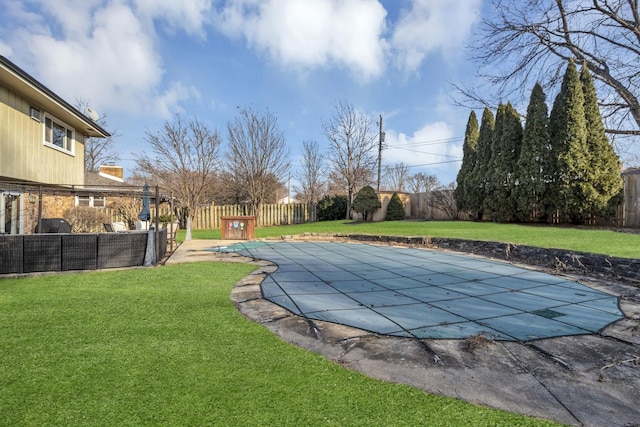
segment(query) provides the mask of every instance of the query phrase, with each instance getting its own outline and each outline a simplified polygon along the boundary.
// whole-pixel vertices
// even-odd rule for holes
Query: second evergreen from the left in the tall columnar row
[[[482,220],[483,206],[485,198],[485,187],[487,182],[488,163],[491,158],[491,145],[493,140],[493,129],[495,126],[493,113],[485,107],[482,112],[480,122],[480,132],[478,134],[478,145],[476,150],[476,163],[464,180],[466,197],[469,202],[468,210],[472,217]]]

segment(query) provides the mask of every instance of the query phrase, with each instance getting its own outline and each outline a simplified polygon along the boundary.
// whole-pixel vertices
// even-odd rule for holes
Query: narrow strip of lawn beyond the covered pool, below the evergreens
[[[640,258],[640,234],[588,227],[470,221],[384,221],[375,223],[326,221],[256,228],[255,235],[256,238],[265,238],[305,232],[449,237],[499,241],[541,248],[569,249],[622,258]],[[184,239],[184,230],[179,238]],[[193,238],[220,239],[220,230],[194,230]]]

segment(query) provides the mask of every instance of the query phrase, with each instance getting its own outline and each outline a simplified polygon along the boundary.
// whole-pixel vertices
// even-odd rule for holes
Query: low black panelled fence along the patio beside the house
[[[0,235],[0,274],[142,266],[149,233],[155,232]],[[154,237],[160,260],[167,252],[167,229]]]

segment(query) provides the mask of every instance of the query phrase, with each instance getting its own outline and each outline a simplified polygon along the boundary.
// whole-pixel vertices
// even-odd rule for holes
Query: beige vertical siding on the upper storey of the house
[[[75,155],[43,144],[43,124],[31,119],[32,104],[0,86],[0,177],[46,184],[84,183],[84,145],[76,141]],[[38,105],[33,105],[39,108]],[[39,108],[44,118],[47,112]],[[82,139],[76,132],[76,139]]]

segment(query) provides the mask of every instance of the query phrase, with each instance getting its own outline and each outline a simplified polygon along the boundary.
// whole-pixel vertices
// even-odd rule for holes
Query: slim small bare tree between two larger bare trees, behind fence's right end
[[[315,206],[323,193],[324,156],[316,141],[304,141],[302,146],[304,149],[302,168],[296,174],[299,185],[294,186],[294,190],[307,205],[309,220],[313,222],[316,221]]]

